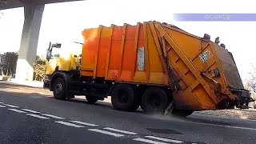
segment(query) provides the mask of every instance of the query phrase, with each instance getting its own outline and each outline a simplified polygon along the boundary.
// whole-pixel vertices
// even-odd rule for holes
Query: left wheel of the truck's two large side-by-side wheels
[[[114,86],[111,94],[111,103],[115,110],[134,111],[138,109],[138,100],[135,98],[134,88],[128,84]]]

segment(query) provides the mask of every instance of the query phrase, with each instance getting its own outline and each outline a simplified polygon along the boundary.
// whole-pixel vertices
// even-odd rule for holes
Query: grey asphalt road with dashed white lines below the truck
[[[0,82],[0,143],[256,143],[256,121],[114,110],[59,101],[48,90]]]

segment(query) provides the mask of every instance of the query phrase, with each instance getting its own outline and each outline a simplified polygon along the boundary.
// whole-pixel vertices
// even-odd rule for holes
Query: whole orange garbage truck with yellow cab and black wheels
[[[148,114],[179,116],[248,108],[253,101],[232,54],[208,34],[200,38],[167,23],[138,22],[86,29],[82,36],[82,54],[62,61],[77,66],[64,70],[57,60],[46,69],[44,86],[54,98],[85,95],[94,103],[111,96],[116,110],[141,106]]]

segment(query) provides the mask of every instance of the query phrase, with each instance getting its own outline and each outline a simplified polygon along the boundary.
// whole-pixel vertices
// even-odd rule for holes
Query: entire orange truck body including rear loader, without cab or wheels
[[[159,22],[99,26],[82,34],[82,76],[164,85],[174,91],[177,84],[175,102],[194,110],[216,110],[223,99],[237,98],[229,90],[229,66],[223,65],[236,68],[234,61],[210,40]],[[238,76],[237,69],[234,73]]]

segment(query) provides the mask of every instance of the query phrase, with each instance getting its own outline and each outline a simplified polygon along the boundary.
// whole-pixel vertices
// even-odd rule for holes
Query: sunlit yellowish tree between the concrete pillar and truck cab
[[[42,81],[44,74],[46,73],[46,59],[36,56],[34,62],[34,79],[36,81]]]

